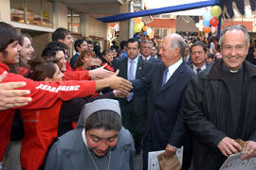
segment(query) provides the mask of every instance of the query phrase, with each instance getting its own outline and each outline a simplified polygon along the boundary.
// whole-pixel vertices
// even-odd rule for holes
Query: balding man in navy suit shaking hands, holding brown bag
[[[175,147],[184,145],[182,169],[190,167],[186,149],[190,139],[180,116],[184,92],[194,75],[182,59],[185,42],[178,34],[167,36],[160,46],[162,63],[155,65],[151,78],[144,85],[149,88],[147,120],[143,139],[143,169],[147,169],[148,152],[165,150],[165,156],[175,153]],[[188,161],[188,162],[187,162]]]

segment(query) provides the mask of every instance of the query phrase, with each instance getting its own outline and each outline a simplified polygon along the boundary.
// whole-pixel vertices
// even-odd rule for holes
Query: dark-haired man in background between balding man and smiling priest
[[[202,70],[209,67],[209,64],[206,62],[207,59],[207,46],[203,42],[194,42],[191,47],[191,59],[192,63],[190,64],[192,71],[195,74],[198,74]]]

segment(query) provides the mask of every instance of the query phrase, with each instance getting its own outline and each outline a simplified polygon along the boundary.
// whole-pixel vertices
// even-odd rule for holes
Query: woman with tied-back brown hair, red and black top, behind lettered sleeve
[[[47,61],[35,58],[30,61],[28,78],[35,81],[62,81],[64,74],[60,71],[58,60],[49,58]],[[73,129],[85,103],[99,98],[120,96],[119,91],[106,93],[98,97],[76,98],[63,102],[58,100],[52,107],[44,110],[22,110],[25,137],[22,140],[21,166],[26,170],[44,169],[44,158],[50,144]]]

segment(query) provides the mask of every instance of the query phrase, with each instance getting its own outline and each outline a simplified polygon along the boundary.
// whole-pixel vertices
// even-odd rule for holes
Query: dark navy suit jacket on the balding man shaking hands
[[[180,110],[186,86],[194,75],[192,69],[183,61],[161,88],[165,68],[163,63],[155,65],[151,82],[146,78],[145,83],[148,84],[149,93],[144,135],[152,135],[155,150],[165,149],[167,144],[181,145],[185,127]]]

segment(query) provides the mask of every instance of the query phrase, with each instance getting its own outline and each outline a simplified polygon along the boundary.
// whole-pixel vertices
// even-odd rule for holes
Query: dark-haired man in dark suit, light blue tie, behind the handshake
[[[127,42],[128,58],[115,62],[115,69],[119,69],[119,76],[133,81],[143,79],[151,73],[152,63],[139,57],[139,42],[136,38]],[[135,140],[137,154],[141,150],[144,122],[146,119],[147,93],[143,86],[137,88],[136,92],[129,93],[127,98],[119,99],[123,127],[132,133]]]

